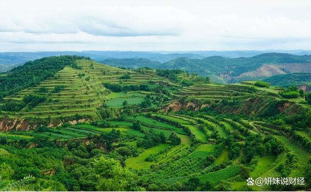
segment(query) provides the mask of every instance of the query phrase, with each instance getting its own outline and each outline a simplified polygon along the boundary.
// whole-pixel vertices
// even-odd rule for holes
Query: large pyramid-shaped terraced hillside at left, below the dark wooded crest
[[[17,94],[3,98],[1,105],[10,102],[22,102],[27,95],[44,96],[46,100],[33,108],[28,106],[15,112],[2,111],[9,118],[54,118],[80,116],[97,119],[96,107],[103,105],[110,91],[103,86],[109,82],[119,85],[169,84],[169,80],[158,77],[152,71],[141,74],[122,70],[90,60],[76,61],[78,68],[66,66],[53,77],[35,87],[28,87]],[[129,79],[122,79],[128,74]],[[43,91],[42,91],[43,90]]]

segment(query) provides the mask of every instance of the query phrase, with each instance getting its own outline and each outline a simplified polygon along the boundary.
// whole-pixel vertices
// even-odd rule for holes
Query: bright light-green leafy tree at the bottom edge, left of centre
[[[136,186],[136,175],[123,169],[115,159],[100,157],[95,160],[94,171],[99,179],[96,186],[99,191],[130,191]]]

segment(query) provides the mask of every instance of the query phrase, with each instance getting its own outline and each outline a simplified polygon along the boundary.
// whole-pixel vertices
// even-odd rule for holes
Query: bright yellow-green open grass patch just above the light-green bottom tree
[[[169,144],[159,144],[155,147],[151,147],[149,149],[145,149],[145,151],[139,154],[138,157],[131,157],[125,160],[125,165],[127,168],[133,169],[148,169],[150,165],[153,164],[152,162],[147,162],[145,159],[150,156],[151,154],[156,154]]]

